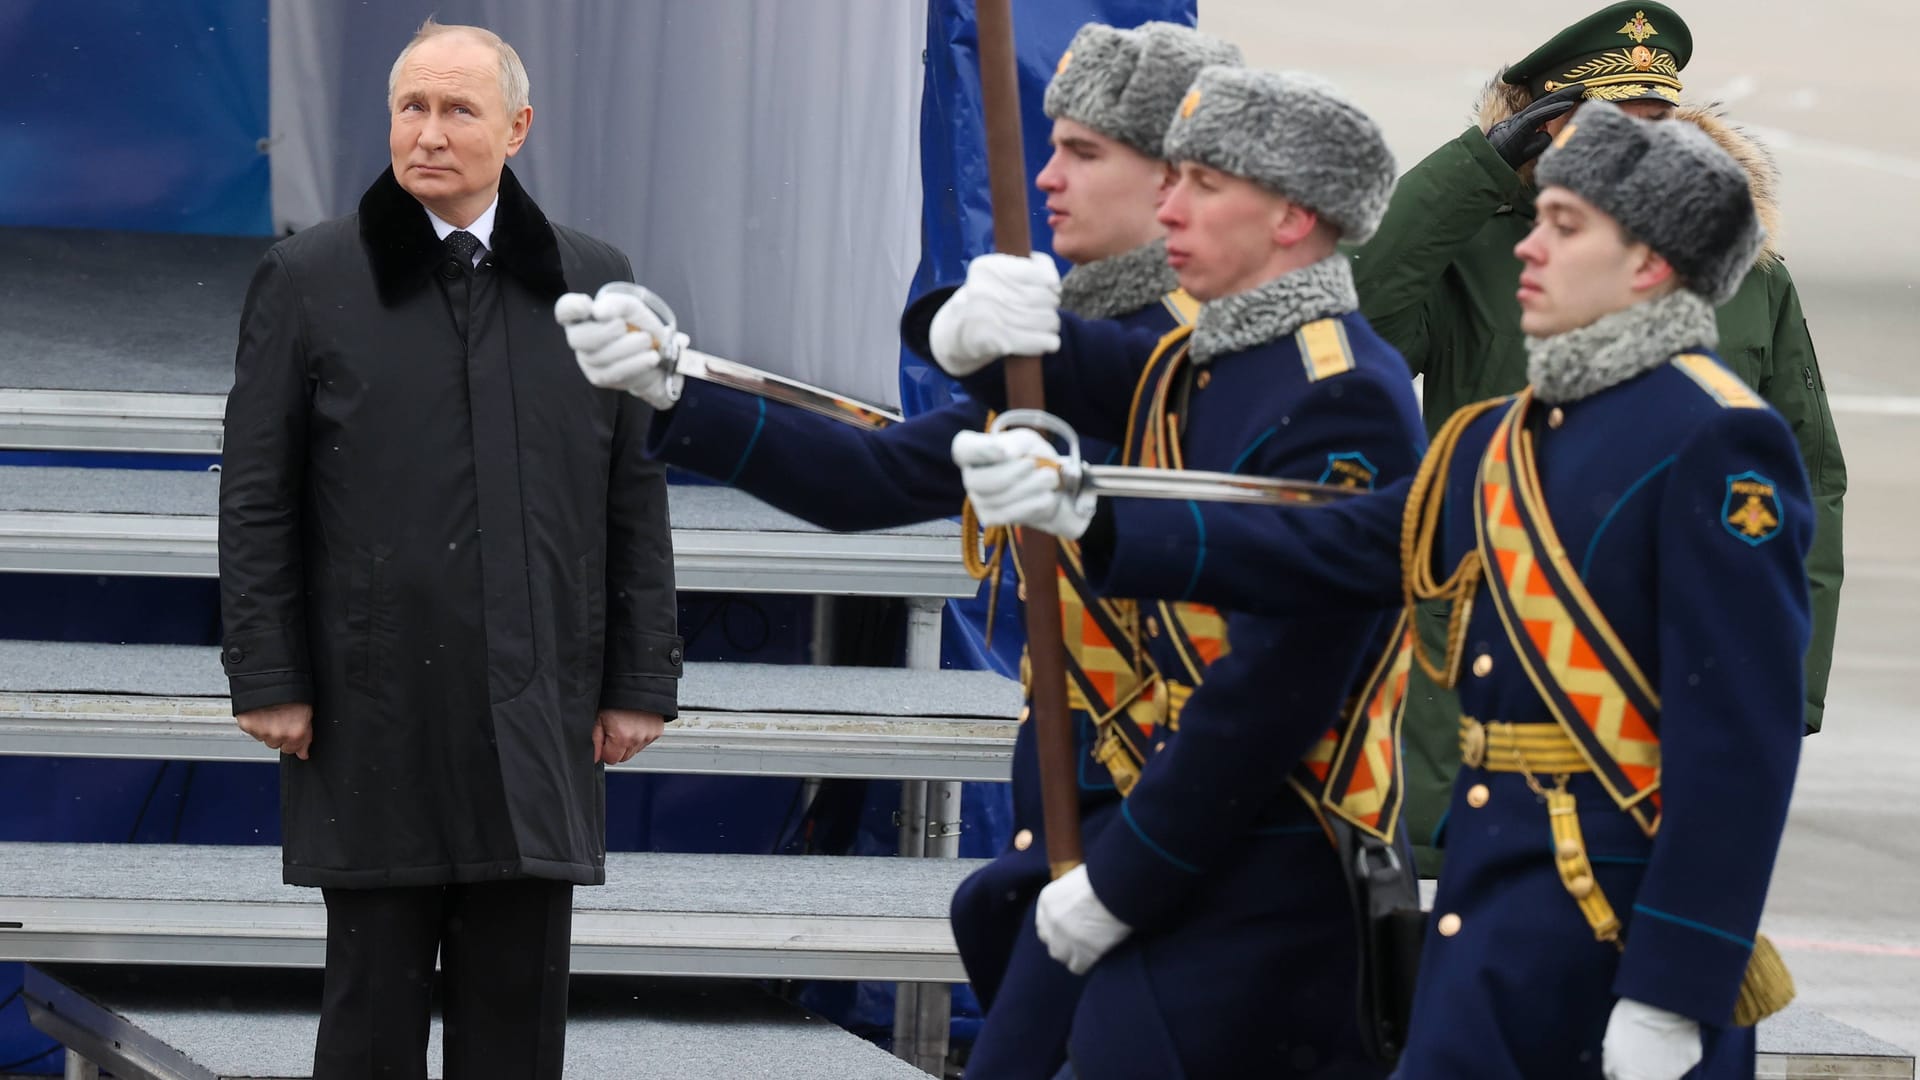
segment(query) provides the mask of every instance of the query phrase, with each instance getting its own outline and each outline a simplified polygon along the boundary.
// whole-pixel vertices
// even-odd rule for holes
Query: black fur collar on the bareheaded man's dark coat
[[[372,259],[380,302],[388,306],[426,282],[428,273],[445,256],[426,209],[399,186],[392,167],[361,196],[359,233]],[[490,252],[501,271],[532,288],[541,300],[559,300],[566,292],[553,225],[526,196],[513,169],[499,171],[499,209],[493,215]]]

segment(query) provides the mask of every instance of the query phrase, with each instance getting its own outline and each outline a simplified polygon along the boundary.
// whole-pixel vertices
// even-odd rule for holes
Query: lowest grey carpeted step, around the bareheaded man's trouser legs
[[[217,1076],[311,1076],[321,972],[46,970]],[[436,1017],[430,1076],[442,1076],[440,1038]],[[925,1080],[904,1061],[753,984],[586,976],[576,976],[568,992],[564,1074],[595,1080]]]

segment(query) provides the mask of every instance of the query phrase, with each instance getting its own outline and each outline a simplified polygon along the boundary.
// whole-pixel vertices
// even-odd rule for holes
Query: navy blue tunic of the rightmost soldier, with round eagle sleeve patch
[[[1476,469],[1503,409],[1461,434],[1446,473],[1434,573],[1475,550]],[[1578,578],[1659,694],[1657,832],[1594,773],[1567,778],[1594,880],[1624,947],[1596,940],[1555,869],[1542,794],[1553,776],[1459,773],[1398,1076],[1597,1078],[1619,997],[1690,1017],[1690,1076],[1753,1074],[1732,1026],[1799,759],[1803,559],[1812,513],[1791,432],[1709,356],[1682,356],[1561,405],[1534,402],[1538,490]],[[1146,502],[1117,511],[1108,580],[1286,613],[1398,600],[1405,484],[1317,509]],[[1129,548],[1129,536],[1152,538]],[[1175,565],[1169,565],[1175,563]],[[1549,724],[1482,582],[1465,634],[1461,709]]]

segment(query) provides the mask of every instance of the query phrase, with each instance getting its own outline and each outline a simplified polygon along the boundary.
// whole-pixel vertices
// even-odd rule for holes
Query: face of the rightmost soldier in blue
[[[1670,281],[1665,259],[1628,240],[1620,225],[1567,188],[1546,188],[1521,259],[1521,331],[1549,338],[1624,311]]]

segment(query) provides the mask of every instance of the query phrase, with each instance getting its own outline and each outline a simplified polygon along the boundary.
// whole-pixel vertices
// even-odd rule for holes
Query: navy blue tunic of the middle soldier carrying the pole
[[[1405,477],[1425,446],[1405,365],[1352,311],[1329,315],[1204,361],[1181,342],[1064,317],[1062,350],[1044,357],[1046,404],[1125,446],[1131,463],[1363,486]],[[968,390],[1000,404],[996,377]],[[1083,553],[1100,584],[1092,534]],[[1190,600],[1185,582],[1104,592]],[[1340,719],[1382,619],[1185,611],[1200,625],[1212,615],[1219,642],[1177,728],[1156,734],[1119,822],[1085,851],[1094,894],[1135,932],[1089,972],[1075,1072],[1379,1074],[1359,1045],[1346,884],[1288,776]],[[1167,625],[1148,644],[1156,659],[1183,650]]]

